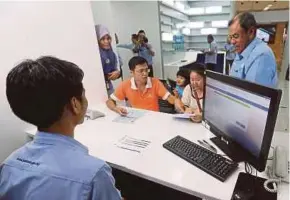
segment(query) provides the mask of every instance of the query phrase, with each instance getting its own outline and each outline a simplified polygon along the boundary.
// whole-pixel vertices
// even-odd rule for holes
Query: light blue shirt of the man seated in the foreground
[[[39,132],[0,167],[3,200],[120,200],[111,168],[71,137]]]

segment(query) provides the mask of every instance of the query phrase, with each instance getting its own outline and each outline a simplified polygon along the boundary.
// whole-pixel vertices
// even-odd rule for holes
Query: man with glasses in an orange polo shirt
[[[123,101],[125,98],[133,108],[159,111],[158,98],[162,98],[174,104],[176,109],[182,109],[181,101],[171,95],[158,79],[148,77],[148,64],[144,58],[131,58],[129,68],[132,78],[123,81],[107,101],[111,110],[126,115],[127,110],[116,105],[117,101]]]

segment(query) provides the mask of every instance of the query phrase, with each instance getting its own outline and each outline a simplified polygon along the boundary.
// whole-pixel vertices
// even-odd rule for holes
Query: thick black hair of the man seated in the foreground
[[[49,128],[72,97],[81,100],[83,71],[74,63],[44,56],[25,60],[6,78],[6,96],[13,113],[38,129]]]

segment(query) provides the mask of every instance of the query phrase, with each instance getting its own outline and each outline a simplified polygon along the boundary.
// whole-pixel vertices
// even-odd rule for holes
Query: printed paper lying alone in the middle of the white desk
[[[125,151],[141,153],[149,146],[150,143],[151,142],[148,140],[143,140],[125,135],[115,145],[116,147]]]

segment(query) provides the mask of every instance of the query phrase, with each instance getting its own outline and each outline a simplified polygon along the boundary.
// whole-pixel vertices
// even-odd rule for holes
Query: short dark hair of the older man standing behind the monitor
[[[230,27],[236,20],[239,20],[240,26],[248,31],[251,27],[257,28],[257,22],[254,15],[250,12],[242,12],[237,14],[233,19],[231,19],[228,23],[228,27]]]

